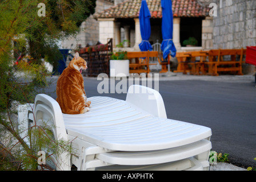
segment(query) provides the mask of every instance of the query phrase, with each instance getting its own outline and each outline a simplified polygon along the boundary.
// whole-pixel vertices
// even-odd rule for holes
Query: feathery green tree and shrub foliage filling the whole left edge
[[[41,2],[46,5],[46,16],[37,14]],[[50,84],[47,78],[51,73],[42,60],[56,65],[61,57],[57,43],[76,35],[94,8],[95,0],[0,1],[1,170],[38,169],[39,149],[51,148],[47,160],[60,152],[71,152],[69,141],[53,140],[42,126],[33,126],[30,131],[18,129],[17,106],[33,103],[35,95]],[[30,144],[21,132],[27,132],[25,138]],[[52,169],[47,165],[44,168]]]

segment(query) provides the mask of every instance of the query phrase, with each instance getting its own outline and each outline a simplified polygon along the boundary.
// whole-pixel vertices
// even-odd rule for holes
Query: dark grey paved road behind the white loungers
[[[53,79],[56,79],[53,78]],[[125,100],[125,93],[99,94],[101,80],[85,77],[87,97]],[[119,81],[115,81],[117,84]],[[49,90],[55,90],[51,85]],[[229,154],[237,166],[256,166],[256,88],[253,76],[161,77],[159,93],[167,117],[210,127],[213,150]],[[56,98],[55,93],[51,93]]]

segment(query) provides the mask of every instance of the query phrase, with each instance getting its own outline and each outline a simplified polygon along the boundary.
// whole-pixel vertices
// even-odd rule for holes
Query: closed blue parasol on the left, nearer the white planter
[[[152,51],[152,46],[149,43],[149,38],[151,34],[151,27],[150,27],[150,11],[149,7],[147,7],[147,2],[142,0],[141,2],[141,9],[139,11],[139,24],[141,27],[141,38],[142,42],[139,44],[139,48],[141,51]]]

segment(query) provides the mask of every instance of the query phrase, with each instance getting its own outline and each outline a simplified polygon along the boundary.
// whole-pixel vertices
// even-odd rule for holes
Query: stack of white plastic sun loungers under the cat
[[[166,118],[161,95],[141,85],[130,86],[126,101],[90,97],[85,114],[62,114],[45,94],[35,98],[35,121],[57,127],[55,139],[71,140],[75,154],[60,156],[69,170],[207,170],[211,129]]]

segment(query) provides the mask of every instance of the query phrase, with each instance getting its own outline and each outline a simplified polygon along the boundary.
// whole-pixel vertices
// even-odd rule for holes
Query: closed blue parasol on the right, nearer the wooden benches
[[[171,53],[172,57],[176,55],[176,48],[173,43],[173,10],[171,9],[171,0],[161,0],[162,6],[162,37],[161,49],[163,59]]]

